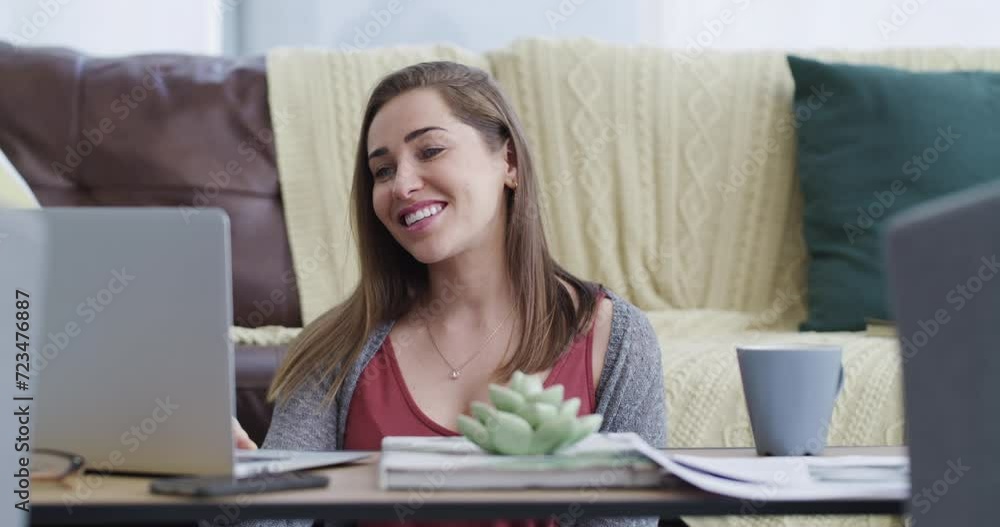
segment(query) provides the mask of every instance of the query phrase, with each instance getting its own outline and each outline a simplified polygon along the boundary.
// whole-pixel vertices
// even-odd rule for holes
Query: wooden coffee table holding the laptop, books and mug
[[[750,449],[669,449],[668,452],[747,456]],[[826,455],[900,455],[903,447],[829,448]],[[584,483],[573,490],[384,491],[377,487],[378,453],[364,461],[316,472],[325,489],[293,490],[220,499],[159,496],[152,478],[88,474],[76,491],[53,482],[32,484],[32,525],[113,525],[198,522],[231,525],[255,518],[328,520],[449,520],[487,518],[581,519],[595,516],[888,514],[905,512],[906,500],[752,502],[726,498],[674,482],[658,489],[602,489]]]

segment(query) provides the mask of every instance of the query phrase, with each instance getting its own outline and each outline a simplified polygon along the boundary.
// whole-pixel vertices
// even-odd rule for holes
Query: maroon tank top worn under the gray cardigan
[[[598,295],[598,302],[602,295]],[[546,377],[547,388],[562,384],[564,397],[580,398],[579,415],[591,414],[596,407],[593,375],[594,327],[578,337],[563,353]],[[396,361],[392,341],[386,336],[382,347],[365,366],[351,398],[344,430],[345,450],[381,450],[385,436],[457,436],[425,414],[413,400]],[[361,527],[536,527],[557,526],[555,517],[541,520],[360,522]]]

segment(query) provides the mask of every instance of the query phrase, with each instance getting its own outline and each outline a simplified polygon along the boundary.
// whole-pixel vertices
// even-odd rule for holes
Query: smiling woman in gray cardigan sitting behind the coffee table
[[[360,284],[291,346],[264,447],[457,435],[458,415],[516,370],[564,385],[580,414],[604,416],[603,431],[665,446],[656,335],[636,307],[553,261],[538,185],[487,73],[431,62],[382,79],[354,168]]]

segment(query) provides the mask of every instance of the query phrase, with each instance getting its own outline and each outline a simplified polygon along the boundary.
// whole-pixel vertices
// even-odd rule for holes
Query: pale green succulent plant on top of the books
[[[580,399],[563,400],[563,386],[543,389],[537,375],[514,372],[509,386],[490,384],[493,406],[475,401],[471,416],[458,416],[458,431],[493,454],[552,454],[601,427],[603,417],[577,417]]]

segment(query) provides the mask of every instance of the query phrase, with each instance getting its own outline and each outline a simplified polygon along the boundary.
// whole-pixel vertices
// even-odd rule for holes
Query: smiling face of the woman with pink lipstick
[[[375,215],[418,261],[503,242],[503,189],[516,176],[507,148],[492,152],[436,91],[406,92],[375,114],[368,167]]]

